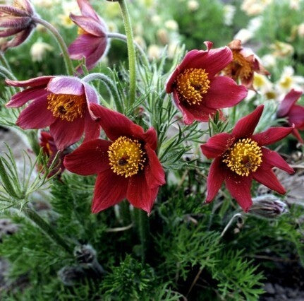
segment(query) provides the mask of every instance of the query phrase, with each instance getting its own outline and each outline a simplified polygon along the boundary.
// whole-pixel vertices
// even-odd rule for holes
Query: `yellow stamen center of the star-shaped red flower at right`
[[[224,153],[223,162],[236,174],[247,177],[261,165],[262,149],[252,139],[243,138]]]

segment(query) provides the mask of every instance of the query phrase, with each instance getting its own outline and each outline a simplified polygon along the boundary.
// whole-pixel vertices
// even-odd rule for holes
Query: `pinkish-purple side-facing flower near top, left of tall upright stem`
[[[107,52],[109,45],[107,38],[107,25],[95,13],[87,0],[77,0],[82,16],[71,13],[70,18],[79,26],[77,39],[68,47],[71,59],[85,58],[88,70],[94,68],[99,59]],[[79,68],[78,71],[81,72]]]

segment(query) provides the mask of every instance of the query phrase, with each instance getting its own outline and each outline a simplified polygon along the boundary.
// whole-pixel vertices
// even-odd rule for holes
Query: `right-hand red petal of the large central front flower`
[[[148,186],[152,189],[164,185],[166,183],[164,179],[164,170],[156,153],[148,145],[145,145],[145,151],[148,160],[147,166],[145,166],[145,177]]]

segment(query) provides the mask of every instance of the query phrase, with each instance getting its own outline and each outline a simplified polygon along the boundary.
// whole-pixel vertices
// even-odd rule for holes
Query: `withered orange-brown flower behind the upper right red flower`
[[[249,48],[243,48],[241,40],[233,40],[229,43],[233,54],[233,60],[224,69],[224,74],[233,78],[234,81],[241,81],[246,88],[253,88],[254,73],[269,75],[270,73],[262,66],[260,60]]]

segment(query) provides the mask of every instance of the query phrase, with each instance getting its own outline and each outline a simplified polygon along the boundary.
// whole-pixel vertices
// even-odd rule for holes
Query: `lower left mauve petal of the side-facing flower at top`
[[[83,59],[95,52],[100,42],[100,37],[95,35],[79,35],[76,40],[68,47],[71,59]]]

